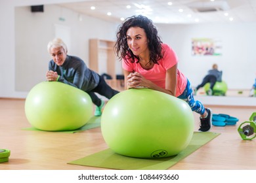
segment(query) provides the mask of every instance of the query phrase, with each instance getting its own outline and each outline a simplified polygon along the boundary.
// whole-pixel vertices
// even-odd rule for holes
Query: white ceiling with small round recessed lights
[[[154,23],[160,24],[200,24],[214,22],[256,22],[256,0],[85,0],[82,2],[62,3],[61,7],[110,20],[121,22],[120,18],[143,14],[148,16]],[[172,5],[167,3],[171,2]],[[211,12],[197,12],[188,5],[199,3],[201,7],[217,7],[222,3],[228,4],[228,10]],[[220,4],[221,3],[221,4]],[[130,5],[131,8],[127,8]],[[95,10],[91,10],[91,7]],[[179,12],[182,8],[183,12]],[[107,15],[111,12],[111,15]],[[224,13],[228,13],[225,16]],[[232,21],[230,21],[232,20]]]

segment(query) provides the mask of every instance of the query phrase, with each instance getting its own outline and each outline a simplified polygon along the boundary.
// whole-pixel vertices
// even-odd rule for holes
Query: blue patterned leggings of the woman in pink
[[[205,107],[202,105],[202,103],[200,101],[195,101],[193,90],[190,86],[189,80],[188,83],[186,84],[184,92],[181,95],[179,95],[178,98],[186,101],[186,103],[188,103],[192,111],[195,111],[201,115],[205,112]]]

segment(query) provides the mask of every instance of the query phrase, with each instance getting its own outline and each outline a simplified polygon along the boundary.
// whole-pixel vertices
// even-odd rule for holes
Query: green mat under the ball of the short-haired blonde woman
[[[85,131],[87,129],[93,129],[95,127],[99,127],[100,126],[100,116],[93,116],[89,122],[87,122],[87,124],[83,125],[82,127],[80,127],[79,129],[75,129],[75,130],[72,130],[72,131],[54,131],[54,132],[62,132],[62,133],[76,133],[76,132],[79,132],[79,131]],[[32,131],[43,131],[43,130],[40,130],[40,129],[37,129],[35,127],[26,127],[26,128],[23,128],[25,130],[32,130]]]

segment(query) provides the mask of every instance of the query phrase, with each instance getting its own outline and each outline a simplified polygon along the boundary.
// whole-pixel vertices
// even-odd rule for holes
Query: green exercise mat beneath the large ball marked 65
[[[218,135],[220,135],[220,133],[194,132],[188,147],[177,156],[171,156],[169,158],[130,158],[116,154],[110,149],[106,149],[90,156],[86,156],[85,158],[71,161],[68,164],[121,170],[165,170],[175,165],[178,161],[181,161],[181,159],[186,158],[186,156],[192,154],[192,152],[195,152]]]

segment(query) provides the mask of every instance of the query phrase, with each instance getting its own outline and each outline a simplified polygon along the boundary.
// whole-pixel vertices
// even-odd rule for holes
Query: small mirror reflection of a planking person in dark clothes
[[[222,81],[222,75],[223,75],[223,71],[218,70],[218,65],[216,63],[213,64],[212,69],[209,70],[207,75],[203,77],[202,83],[199,84],[198,86],[196,86],[196,88],[194,90],[194,95],[196,95],[196,92],[200,88],[205,86],[205,84],[207,84],[208,82],[210,84],[210,88],[207,91],[207,94],[208,95],[213,95],[213,87],[214,87],[216,82],[221,82]]]

